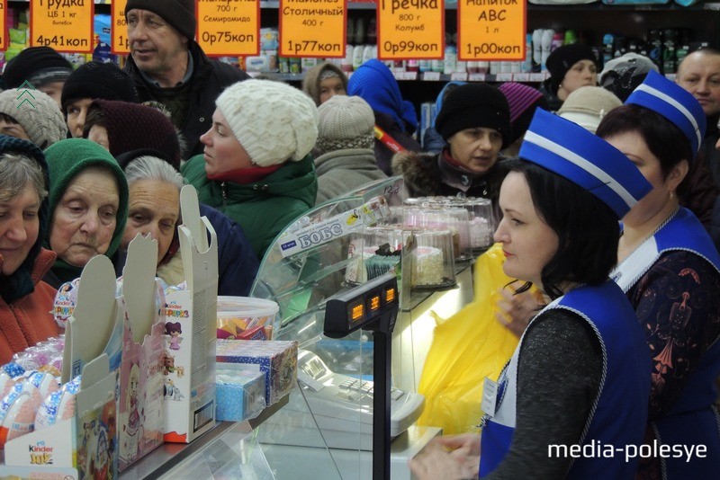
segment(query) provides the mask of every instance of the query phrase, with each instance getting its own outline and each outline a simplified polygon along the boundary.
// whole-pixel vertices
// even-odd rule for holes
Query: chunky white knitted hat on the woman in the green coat
[[[243,80],[220,93],[215,104],[259,166],[302,160],[318,139],[315,102],[288,84]]]

